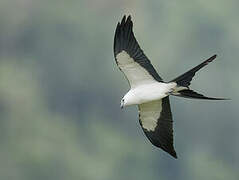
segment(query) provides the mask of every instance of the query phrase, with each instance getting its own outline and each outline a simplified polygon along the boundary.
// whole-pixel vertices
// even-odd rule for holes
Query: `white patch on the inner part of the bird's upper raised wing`
[[[125,74],[131,88],[142,84],[157,82],[146,69],[132,59],[126,51],[122,51],[116,56],[120,70]]]

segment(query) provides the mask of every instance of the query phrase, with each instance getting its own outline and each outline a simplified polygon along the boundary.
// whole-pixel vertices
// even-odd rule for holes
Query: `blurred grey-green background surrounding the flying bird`
[[[239,1],[1,0],[1,180],[239,179]],[[213,54],[192,88],[231,101],[171,97],[178,160],[153,147],[113,58],[131,14],[165,80]]]

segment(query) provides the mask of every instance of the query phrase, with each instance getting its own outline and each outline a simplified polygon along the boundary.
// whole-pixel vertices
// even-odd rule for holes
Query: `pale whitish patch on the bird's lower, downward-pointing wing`
[[[142,127],[147,131],[154,131],[162,111],[162,100],[139,105],[139,115]]]

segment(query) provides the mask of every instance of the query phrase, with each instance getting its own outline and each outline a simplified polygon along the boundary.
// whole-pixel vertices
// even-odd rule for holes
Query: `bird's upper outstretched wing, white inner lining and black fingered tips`
[[[123,17],[118,23],[114,37],[114,56],[119,69],[131,87],[162,81],[149,59],[140,48],[133,33],[131,17]]]

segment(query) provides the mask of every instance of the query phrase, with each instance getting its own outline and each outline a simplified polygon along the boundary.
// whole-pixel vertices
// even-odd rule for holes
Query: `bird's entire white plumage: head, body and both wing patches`
[[[154,131],[163,108],[161,99],[177,92],[177,84],[158,82],[124,50],[116,55],[116,61],[131,87],[121,100],[121,107],[138,105],[142,127]]]

